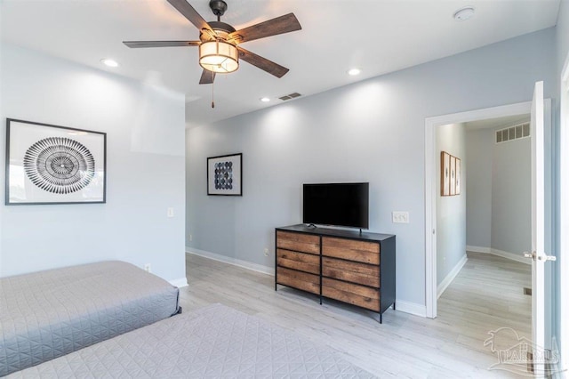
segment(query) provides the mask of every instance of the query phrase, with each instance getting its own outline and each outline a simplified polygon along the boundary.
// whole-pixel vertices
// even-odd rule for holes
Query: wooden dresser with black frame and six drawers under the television
[[[352,230],[309,228],[275,230],[275,290],[290,286],[373,310],[395,309],[395,236]]]

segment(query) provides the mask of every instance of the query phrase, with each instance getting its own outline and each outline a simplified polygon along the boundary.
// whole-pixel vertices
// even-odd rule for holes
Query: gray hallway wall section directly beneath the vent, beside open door
[[[529,138],[493,143],[493,249],[520,256],[532,249],[531,159]]]

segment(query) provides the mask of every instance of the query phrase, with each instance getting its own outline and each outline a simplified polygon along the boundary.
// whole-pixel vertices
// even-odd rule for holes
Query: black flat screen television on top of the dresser
[[[369,183],[304,184],[302,222],[369,228]]]

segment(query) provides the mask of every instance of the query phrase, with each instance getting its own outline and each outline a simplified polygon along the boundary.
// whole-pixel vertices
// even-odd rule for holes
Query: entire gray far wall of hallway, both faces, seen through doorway
[[[467,245],[521,256],[532,245],[531,139],[496,144],[501,128],[466,133]]]

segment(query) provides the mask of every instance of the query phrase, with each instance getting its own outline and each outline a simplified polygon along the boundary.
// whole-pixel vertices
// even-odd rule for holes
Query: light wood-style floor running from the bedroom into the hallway
[[[512,327],[529,335],[530,266],[489,254],[470,254],[438,302],[437,319],[388,310],[380,324],[373,312],[341,302],[319,305],[316,295],[279,286],[274,278],[187,254],[184,312],[220,302],[341,351],[380,377],[516,377],[488,370],[498,362],[484,341],[489,331]]]

